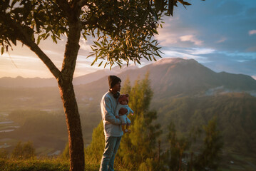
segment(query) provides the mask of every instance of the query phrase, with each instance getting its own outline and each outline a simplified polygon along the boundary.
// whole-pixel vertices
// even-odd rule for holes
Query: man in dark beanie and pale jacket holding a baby
[[[101,100],[101,117],[103,120],[105,135],[105,150],[101,159],[100,171],[114,170],[114,160],[121,142],[123,130],[121,120],[115,117],[118,97],[121,90],[121,79],[117,76],[108,76],[109,90],[103,95]],[[127,109],[122,108],[121,115],[127,113]]]

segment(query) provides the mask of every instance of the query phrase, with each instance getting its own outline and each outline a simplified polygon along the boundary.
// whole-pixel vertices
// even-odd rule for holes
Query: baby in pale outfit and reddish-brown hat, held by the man
[[[130,120],[127,118],[127,116],[129,115],[129,113],[131,113],[133,115],[133,110],[131,110],[129,108],[128,104],[128,94],[123,94],[120,95],[118,98],[118,106],[116,107],[116,118],[119,118],[121,120],[122,123],[122,130],[124,133],[130,133],[129,127],[130,127]],[[126,108],[128,111],[125,115],[118,115],[119,110],[121,108]]]

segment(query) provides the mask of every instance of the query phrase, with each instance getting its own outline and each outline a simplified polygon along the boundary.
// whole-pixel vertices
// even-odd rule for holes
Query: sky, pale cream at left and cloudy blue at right
[[[256,1],[188,0],[192,6],[175,7],[173,17],[164,17],[163,28],[155,38],[163,58],[193,58],[215,72],[242,73],[256,79]],[[74,77],[97,71],[86,58],[91,41],[80,40]],[[49,38],[40,47],[61,69],[66,37],[58,44]],[[158,58],[159,59],[159,58]],[[142,61],[145,66],[150,61]],[[138,66],[138,67],[141,67]],[[0,56],[0,78],[51,78],[43,62],[26,46],[18,43],[13,51]]]

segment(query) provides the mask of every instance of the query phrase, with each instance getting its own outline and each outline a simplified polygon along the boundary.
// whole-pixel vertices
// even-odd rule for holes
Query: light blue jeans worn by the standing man
[[[120,145],[122,137],[108,137],[105,138],[105,150],[101,158],[100,171],[113,171],[114,170],[114,160],[118,147]]]

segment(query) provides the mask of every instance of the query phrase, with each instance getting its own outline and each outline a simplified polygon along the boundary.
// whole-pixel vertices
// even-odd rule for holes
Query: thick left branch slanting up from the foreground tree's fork
[[[9,15],[0,14],[1,21],[4,21],[6,26],[14,28],[14,35],[16,35],[17,40],[24,43],[26,46],[31,48],[34,53],[46,64],[47,68],[51,71],[53,76],[58,80],[61,77],[61,71],[54,65],[48,56],[39,48],[39,46],[34,42],[34,31],[29,26],[21,26],[16,21],[11,19]]]

